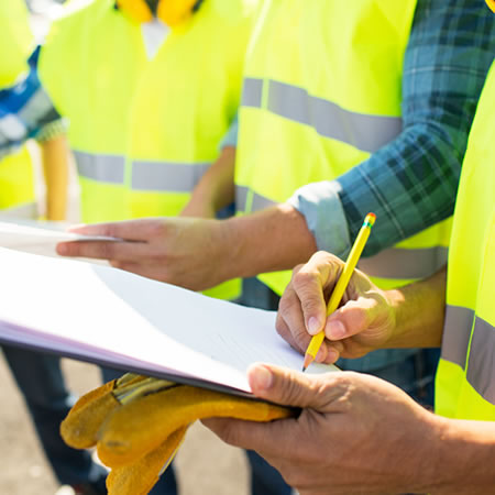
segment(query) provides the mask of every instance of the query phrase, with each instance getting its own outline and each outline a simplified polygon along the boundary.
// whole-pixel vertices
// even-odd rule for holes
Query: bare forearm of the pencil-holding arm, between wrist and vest
[[[385,348],[439,348],[446,310],[447,268],[430,278],[387,292],[395,330]]]

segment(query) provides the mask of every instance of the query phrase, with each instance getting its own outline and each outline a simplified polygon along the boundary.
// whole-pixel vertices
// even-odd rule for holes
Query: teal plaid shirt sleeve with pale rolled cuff
[[[480,0],[418,0],[403,78],[400,135],[333,183],[289,200],[319,249],[344,256],[369,211],[364,255],[453,213],[468,134],[495,54],[495,19]]]

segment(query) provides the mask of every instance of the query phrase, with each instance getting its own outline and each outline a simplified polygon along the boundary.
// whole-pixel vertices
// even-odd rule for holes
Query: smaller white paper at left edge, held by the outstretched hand
[[[0,246],[26,253],[56,256],[55,246],[64,241],[121,241],[106,237],[80,235],[66,232],[67,224],[36,221],[2,221],[0,218]]]

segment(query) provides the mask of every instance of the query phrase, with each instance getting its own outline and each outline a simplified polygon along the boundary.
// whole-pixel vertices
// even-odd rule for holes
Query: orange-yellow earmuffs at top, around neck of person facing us
[[[197,0],[161,0],[156,16],[174,28],[190,18],[197,2]],[[145,0],[117,0],[117,4],[135,22],[150,22],[153,19],[153,12]]]

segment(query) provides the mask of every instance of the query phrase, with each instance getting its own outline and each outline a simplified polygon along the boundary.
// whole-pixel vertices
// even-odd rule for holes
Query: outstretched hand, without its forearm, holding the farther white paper
[[[223,223],[196,218],[147,218],[81,226],[70,230],[122,241],[65,242],[57,245],[57,253],[108,260],[117,268],[204,290],[227,279],[221,260],[227,261],[229,253],[235,255],[233,249],[223,250],[229,245]]]

